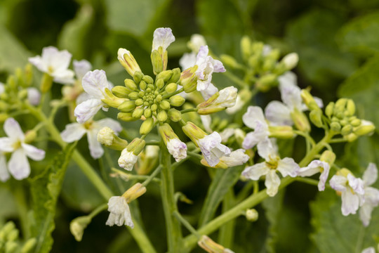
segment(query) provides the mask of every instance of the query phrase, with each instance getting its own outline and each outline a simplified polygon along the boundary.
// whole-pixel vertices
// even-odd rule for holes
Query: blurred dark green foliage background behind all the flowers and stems
[[[41,48],[49,45],[67,49],[74,59],[89,60],[94,69],[104,69],[114,84],[122,84],[125,78],[124,69],[117,61],[119,47],[132,51],[141,69],[152,74],[149,52],[152,33],[157,27],[171,27],[176,37],[168,49],[169,67],[178,66],[178,59],[187,51],[186,43],[194,33],[203,34],[215,53],[238,56],[239,40],[244,34],[279,47],[283,53],[297,52],[300,62],[295,72],[301,87],[312,86],[312,93],[323,98],[324,104],[342,96],[352,98],[357,103],[359,116],[379,126],[378,0],[2,0],[0,81],[4,82],[15,67],[25,65],[29,56],[39,55]],[[215,80],[218,86],[232,85],[222,75]],[[60,87],[55,88],[59,93]],[[274,98],[279,98],[277,91],[258,94],[255,103],[265,106]],[[56,124],[62,130],[68,121],[65,111],[60,113],[60,122]],[[27,119],[23,123],[33,125]],[[130,124],[124,126],[130,129]],[[360,176],[368,162],[378,164],[378,140],[374,134],[355,143],[335,145],[340,157],[338,164]],[[88,156],[85,140],[79,141],[78,147]],[[294,147],[286,152],[300,157],[298,143]],[[59,149],[58,146],[49,148],[51,157],[39,164],[34,162],[35,167],[46,167],[53,160]],[[100,169],[111,185],[114,179],[108,174],[111,164],[117,164],[115,157],[117,153],[106,150],[102,160],[93,161],[93,166]],[[105,212],[86,228],[82,242],[74,240],[69,233],[69,221],[86,214],[103,200],[75,164],[67,165],[55,214],[52,252],[139,252],[125,228],[105,226]],[[180,203],[180,212],[192,223],[199,217],[201,222],[211,219],[220,212],[217,207],[223,195],[237,181],[234,174],[232,171],[215,174],[221,182],[227,183],[224,189],[217,190],[220,186],[213,181],[208,195],[212,195],[212,191],[217,194],[207,201],[214,206],[200,214],[211,180],[204,167],[193,163],[180,167],[175,171],[176,190],[194,202],[192,205]],[[54,179],[34,179],[31,184],[36,184],[36,180],[47,184]],[[18,221],[18,207],[11,194],[15,186],[20,187],[20,184],[15,181],[0,184],[2,222]],[[27,186],[25,183],[25,188]],[[239,188],[237,183],[234,190]],[[113,190],[117,193],[121,189],[114,187]],[[56,201],[56,196],[47,197],[52,199],[46,201]],[[164,252],[164,215],[158,187],[149,186],[143,200],[133,205],[140,205],[140,217],[135,218],[144,223],[157,250]],[[255,223],[248,223],[242,216],[237,219],[234,242],[225,246],[235,252],[331,253],[361,252],[378,243],[379,209],[375,209],[371,225],[364,228],[357,215],[343,217],[340,214],[340,198],[331,190],[317,193],[313,186],[293,183],[285,192],[266,200],[258,212],[260,219]],[[217,236],[217,233],[213,235],[216,240]]]

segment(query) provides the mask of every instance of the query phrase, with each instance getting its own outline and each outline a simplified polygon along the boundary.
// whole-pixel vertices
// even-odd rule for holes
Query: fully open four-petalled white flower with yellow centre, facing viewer
[[[269,138],[258,143],[258,154],[265,159],[265,162],[246,167],[242,171],[242,175],[251,180],[258,180],[261,176],[266,176],[265,186],[267,188],[267,195],[273,197],[277,194],[280,185],[277,171],[283,177],[295,177],[298,175],[300,167],[292,158],[285,157],[284,159],[280,159],[277,154],[277,147]]]

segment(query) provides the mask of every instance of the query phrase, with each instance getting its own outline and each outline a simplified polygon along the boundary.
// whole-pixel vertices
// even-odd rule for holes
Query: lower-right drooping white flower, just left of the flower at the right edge
[[[364,182],[351,173],[347,176],[334,175],[329,181],[331,188],[342,193],[341,212],[344,216],[355,214],[364,202]]]

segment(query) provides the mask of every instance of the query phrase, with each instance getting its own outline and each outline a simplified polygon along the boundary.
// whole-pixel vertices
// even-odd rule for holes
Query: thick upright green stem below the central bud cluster
[[[166,219],[166,234],[168,252],[178,253],[182,252],[182,230],[180,223],[175,216],[174,212],[178,212],[174,197],[173,173],[171,170],[171,155],[168,153],[164,141],[161,141],[161,197],[164,208],[164,217]]]

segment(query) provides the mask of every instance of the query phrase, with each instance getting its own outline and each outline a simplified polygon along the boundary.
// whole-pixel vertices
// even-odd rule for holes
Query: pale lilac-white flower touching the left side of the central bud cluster
[[[75,108],[74,115],[77,117],[77,122],[79,123],[84,123],[88,119],[91,119],[100,108],[107,110],[107,108],[104,107],[105,103],[102,102],[102,99],[107,98],[105,89],[111,89],[104,70],[87,72],[83,77],[82,85],[84,91],[93,98],[85,100]]]

